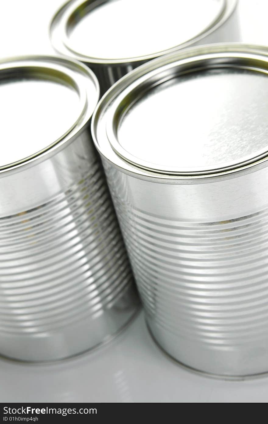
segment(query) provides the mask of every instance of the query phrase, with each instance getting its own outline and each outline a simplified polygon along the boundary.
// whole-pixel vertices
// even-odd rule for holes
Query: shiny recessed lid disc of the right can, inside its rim
[[[193,70],[151,89],[148,81],[136,100],[126,89],[124,100],[112,108],[120,108],[114,148],[137,165],[179,173],[230,167],[267,154],[267,70],[233,64]]]

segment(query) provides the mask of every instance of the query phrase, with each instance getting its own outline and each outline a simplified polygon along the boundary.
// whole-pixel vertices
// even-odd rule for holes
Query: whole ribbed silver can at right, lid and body
[[[210,374],[268,371],[267,51],[155,59],[92,120],[150,331]]]

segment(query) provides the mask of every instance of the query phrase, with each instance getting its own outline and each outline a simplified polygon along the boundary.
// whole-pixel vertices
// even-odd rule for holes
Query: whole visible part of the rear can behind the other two
[[[50,25],[54,48],[86,63],[104,93],[142,63],[183,47],[239,41],[237,0],[71,0]]]

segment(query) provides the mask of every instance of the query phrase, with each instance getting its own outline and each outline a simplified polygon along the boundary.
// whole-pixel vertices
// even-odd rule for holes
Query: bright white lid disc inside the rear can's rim
[[[88,11],[84,5],[80,8],[81,19],[66,24],[65,45],[82,56],[99,59],[160,53],[211,28],[225,7],[225,0],[165,0],[165,7],[162,0],[115,0]],[[139,22],[139,31],[129,31],[129,20],[122,18],[130,16],[132,22]],[[96,37],[100,28],[102,36]]]

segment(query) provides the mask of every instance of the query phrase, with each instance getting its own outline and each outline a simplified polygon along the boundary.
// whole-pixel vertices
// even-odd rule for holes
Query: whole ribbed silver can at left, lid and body
[[[114,335],[137,309],[78,62],[0,63],[0,354],[56,360]]]

